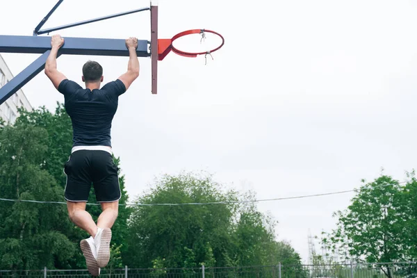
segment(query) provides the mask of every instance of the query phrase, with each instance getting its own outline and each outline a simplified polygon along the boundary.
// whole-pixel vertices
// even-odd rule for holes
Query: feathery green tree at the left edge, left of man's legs
[[[7,199],[63,201],[63,189],[46,170],[48,134],[34,126],[0,130],[0,195]],[[68,267],[76,248],[59,204],[0,202],[0,268]]]

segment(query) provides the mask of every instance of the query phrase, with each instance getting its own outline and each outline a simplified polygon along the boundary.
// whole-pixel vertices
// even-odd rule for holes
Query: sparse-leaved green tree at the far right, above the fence
[[[334,215],[337,227],[325,234],[323,243],[332,252],[345,250],[346,260],[368,263],[409,261],[407,223],[412,220],[404,187],[382,175],[366,183],[345,211]],[[386,270],[391,277],[391,270]]]

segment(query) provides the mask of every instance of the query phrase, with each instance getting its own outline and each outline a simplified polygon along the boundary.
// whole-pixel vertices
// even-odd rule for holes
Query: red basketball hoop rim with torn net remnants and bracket
[[[204,52],[186,52],[186,51],[179,50],[176,47],[174,47],[174,45],[172,45],[172,42],[174,42],[174,40],[177,40],[177,38],[181,38],[185,35],[202,34],[202,40],[203,40],[205,38],[205,33],[213,33],[215,35],[218,35],[222,39],[222,44],[220,44],[220,46],[215,49],[204,51]],[[217,51],[218,49],[220,49],[223,46],[223,44],[224,44],[223,36],[215,31],[205,30],[205,29],[193,29],[193,30],[183,31],[181,33],[178,33],[177,35],[174,35],[172,39],[158,39],[158,60],[163,60],[163,58],[165,58],[165,56],[167,56],[170,53],[170,51],[174,52],[174,54],[178,54],[180,56],[190,57],[190,58],[195,58],[198,55],[206,55],[206,56],[210,55],[211,56],[211,54],[214,51]],[[211,58],[213,58],[213,56]]]

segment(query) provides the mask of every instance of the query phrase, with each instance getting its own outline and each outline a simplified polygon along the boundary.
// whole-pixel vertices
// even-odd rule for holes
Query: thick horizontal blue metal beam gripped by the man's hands
[[[60,49],[61,54],[97,55],[97,56],[129,56],[126,41],[120,39],[99,38],[64,38]],[[138,57],[149,57],[148,41],[138,40],[136,54]],[[44,54],[51,49],[50,37],[0,35],[0,53]]]

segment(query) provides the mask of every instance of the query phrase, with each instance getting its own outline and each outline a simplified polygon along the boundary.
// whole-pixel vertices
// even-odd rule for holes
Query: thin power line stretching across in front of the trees
[[[407,183],[407,181],[400,181],[400,183]],[[381,186],[373,186],[373,188],[383,188],[386,186],[391,186],[391,184],[384,184]],[[362,188],[363,189],[363,188]],[[339,195],[345,193],[352,193],[357,189],[352,190],[343,190],[343,191],[336,191],[330,193],[318,193],[318,194],[311,194],[311,195],[300,195],[300,196],[291,196],[291,197],[279,197],[279,198],[272,198],[272,199],[254,199],[254,200],[244,200],[244,201],[225,201],[225,202],[205,202],[205,203],[176,203],[176,204],[142,204],[142,203],[126,203],[126,204],[119,204],[119,206],[195,206],[195,205],[211,205],[211,204],[245,204],[245,203],[255,203],[255,202],[272,202],[272,201],[283,201],[288,199],[304,199],[304,198],[312,198],[312,197],[322,197],[322,196],[329,196],[329,195]],[[36,203],[36,204],[67,204],[66,202],[55,202],[55,201],[37,201],[37,200],[25,200],[25,199],[6,199],[0,198],[0,201],[5,202],[28,202],[28,203]],[[97,203],[87,203],[90,206],[99,206]]]

